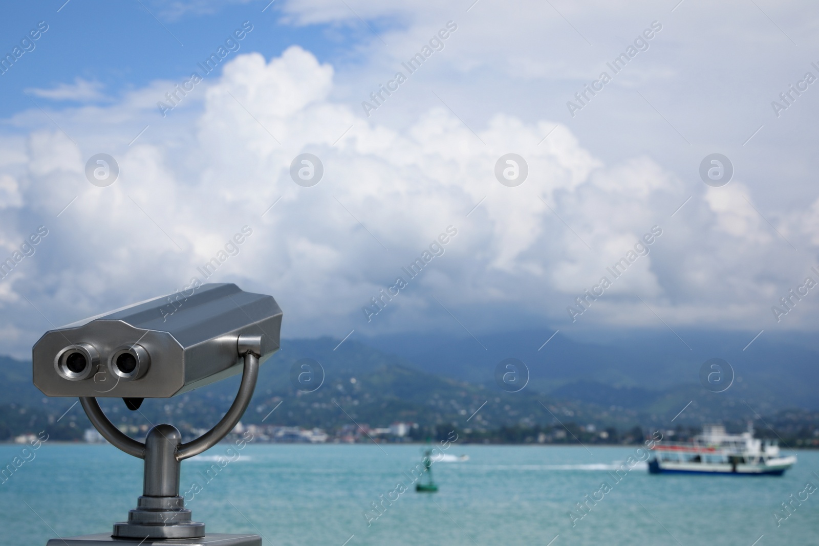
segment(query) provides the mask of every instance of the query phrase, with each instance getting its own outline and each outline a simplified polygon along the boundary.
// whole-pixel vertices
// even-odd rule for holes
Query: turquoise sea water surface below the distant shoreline
[[[256,533],[267,546],[819,542],[819,490],[801,493],[808,482],[819,485],[819,453],[812,451],[799,451],[781,477],[654,476],[640,463],[617,482],[614,470],[637,446],[455,443],[446,453],[469,460],[433,464],[438,493],[413,487],[391,494],[399,483],[411,485],[406,473],[420,462],[422,446],[247,444],[238,459],[229,447],[183,462],[187,506],[209,532]],[[0,445],[0,464],[22,448]],[[111,445],[47,442],[35,453],[0,485],[0,544],[110,532],[141,494],[143,462]],[[215,472],[219,455],[234,460]],[[575,504],[604,481],[611,490],[572,521]],[[364,513],[381,495],[395,500],[378,518],[370,512],[368,523]],[[777,525],[781,503],[806,496],[787,519],[781,511]]]

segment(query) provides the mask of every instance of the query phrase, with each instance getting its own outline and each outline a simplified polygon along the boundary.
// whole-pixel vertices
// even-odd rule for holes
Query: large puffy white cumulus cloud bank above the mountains
[[[6,350],[24,354],[50,323],[205,280],[201,266],[245,226],[251,235],[207,280],[273,294],[285,333],[303,336],[453,327],[432,296],[478,328],[515,327],[497,322],[499,309],[564,324],[566,307],[655,225],[663,235],[649,255],[581,320],[656,323],[639,296],[667,323],[745,325],[774,303],[771,279],[786,282],[801,264],[744,201],[753,192],[743,183],[692,190],[645,154],[607,165],[566,125],[503,111],[477,134],[443,106],[391,128],[334,102],[333,74],[301,47],[269,61],[242,54],[192,92],[193,120],[148,112],[163,89],[152,84],[95,107],[119,120],[104,140],[82,108],[52,112],[67,134],[32,124],[25,159],[0,164],[0,206],[16,211],[0,235],[8,254],[39,225],[49,234],[0,281]],[[99,152],[120,167],[110,187],[85,178]],[[290,178],[305,152],[324,165],[314,187]],[[518,187],[494,175],[510,152],[529,168]],[[808,244],[811,218],[782,228]],[[444,254],[409,279],[402,267],[448,226],[458,233]],[[362,308],[400,276],[409,287],[367,322]]]

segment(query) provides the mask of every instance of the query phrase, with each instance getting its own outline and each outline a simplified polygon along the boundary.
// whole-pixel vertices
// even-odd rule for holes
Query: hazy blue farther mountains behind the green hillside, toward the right
[[[553,333],[505,332],[477,336],[480,341],[400,334],[366,343],[423,371],[482,385],[491,384],[502,359],[517,358],[531,371],[532,390],[638,410],[695,395],[702,365],[720,358],[735,371],[734,384],[720,398],[753,400],[766,411],[819,409],[819,336],[812,333],[766,331],[750,345],[759,332],[677,329],[679,337],[665,330],[589,332],[587,339],[558,333],[550,339]]]

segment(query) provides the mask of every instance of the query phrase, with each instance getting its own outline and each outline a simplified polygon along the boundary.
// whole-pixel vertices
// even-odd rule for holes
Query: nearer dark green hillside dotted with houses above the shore
[[[324,370],[321,381],[319,366],[314,365],[313,382],[307,384],[321,382],[311,392],[307,390],[314,387],[296,380],[302,359],[313,359]],[[31,384],[30,374],[30,363],[0,359],[4,385],[0,439],[35,429],[48,430],[58,439],[81,437],[90,424],[79,404],[72,408],[75,399],[47,399]],[[219,420],[232,403],[239,380],[239,376],[232,377],[172,399],[146,399],[136,412],[125,408],[120,399],[101,399],[101,403],[113,422],[132,430],[171,422],[183,434],[193,435]],[[749,404],[743,402],[746,396]],[[283,349],[261,367],[256,394],[242,422],[319,427],[331,434],[359,431],[359,426],[411,422],[417,425],[411,432],[415,439],[454,428],[475,441],[540,438],[593,443],[635,440],[640,436],[636,427],[665,430],[725,422],[744,428],[746,419],[755,418],[753,411],[805,438],[812,438],[819,424],[814,413],[776,413],[741,385],[714,394],[699,385],[646,390],[586,381],[564,386],[553,395],[543,395],[532,386],[509,393],[494,383],[476,385],[423,372],[404,359],[359,342],[348,340],[339,345],[338,340],[324,337],[283,341]]]

